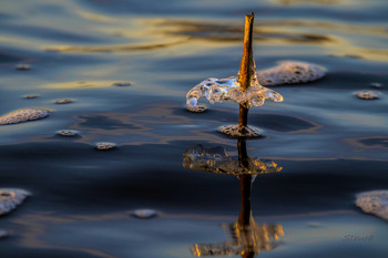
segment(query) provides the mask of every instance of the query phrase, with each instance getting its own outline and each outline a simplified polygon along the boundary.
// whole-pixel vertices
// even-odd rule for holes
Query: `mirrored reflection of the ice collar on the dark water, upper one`
[[[257,175],[282,171],[269,159],[247,157],[247,165],[242,166],[238,157],[228,156],[225,148],[205,149],[195,145],[183,154],[183,167],[231,175]]]

